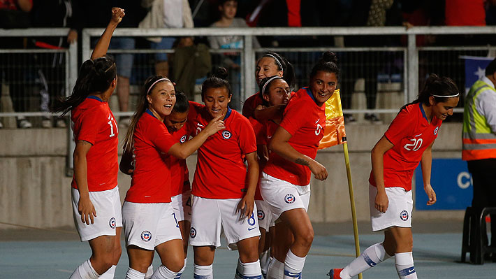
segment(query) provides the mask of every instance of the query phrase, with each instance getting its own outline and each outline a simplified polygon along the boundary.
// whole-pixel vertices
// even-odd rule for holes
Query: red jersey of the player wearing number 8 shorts
[[[212,119],[205,106],[191,103],[196,113],[188,121],[196,132],[202,131]],[[246,117],[228,108],[224,117],[226,129],[207,138],[198,149],[198,163],[191,185],[191,194],[206,199],[240,199],[246,192],[246,154],[256,152],[253,129]]]

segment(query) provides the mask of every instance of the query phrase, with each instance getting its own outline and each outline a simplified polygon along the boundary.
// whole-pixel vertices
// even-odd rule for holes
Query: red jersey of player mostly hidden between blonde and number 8
[[[188,123],[173,132],[172,136],[175,142],[184,143],[189,139],[192,130]],[[168,156],[168,164],[170,166],[170,195],[177,196],[191,189],[189,186],[189,171],[185,159],[179,159],[173,155]]]

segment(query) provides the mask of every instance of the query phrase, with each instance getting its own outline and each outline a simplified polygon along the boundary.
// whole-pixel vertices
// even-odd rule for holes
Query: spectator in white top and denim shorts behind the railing
[[[146,17],[140,22],[140,28],[193,28],[193,18],[188,0],[142,0],[141,5],[148,8]],[[147,38],[155,50],[170,50],[175,37]],[[156,53],[156,75],[169,76],[168,55]]]

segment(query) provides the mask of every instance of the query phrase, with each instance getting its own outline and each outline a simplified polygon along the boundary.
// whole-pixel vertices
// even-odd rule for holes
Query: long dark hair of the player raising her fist
[[[116,76],[117,67],[112,57],[104,56],[86,60],[81,65],[71,96],[57,99],[50,110],[52,113],[61,112],[65,115],[85,101],[89,94],[108,90]]]

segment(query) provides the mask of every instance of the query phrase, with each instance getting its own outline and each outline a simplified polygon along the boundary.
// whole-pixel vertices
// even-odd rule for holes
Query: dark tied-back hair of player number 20
[[[425,80],[423,90],[420,92],[420,94],[418,94],[417,99],[402,106],[402,108],[400,108],[400,111],[412,103],[423,103],[425,104],[425,106],[430,106],[429,98],[433,95],[436,95],[433,96],[434,100],[436,101],[436,103],[439,103],[448,101],[448,99],[450,98],[448,96],[453,96],[456,94],[459,94],[458,87],[451,78],[440,78],[435,73],[431,73],[429,75],[429,78]]]

